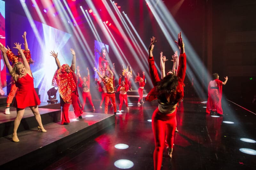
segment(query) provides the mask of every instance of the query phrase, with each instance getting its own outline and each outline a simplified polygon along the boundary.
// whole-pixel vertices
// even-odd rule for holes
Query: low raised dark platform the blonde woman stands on
[[[70,111],[69,115],[72,114],[73,112]],[[93,117],[85,117],[86,115]],[[37,131],[37,128],[24,130],[18,133],[20,139],[18,143],[12,142],[11,136],[2,137],[0,169],[35,167],[114,123],[114,115],[84,113],[83,119],[70,117],[69,125],[60,125],[60,122],[44,125],[47,130],[45,133]]]

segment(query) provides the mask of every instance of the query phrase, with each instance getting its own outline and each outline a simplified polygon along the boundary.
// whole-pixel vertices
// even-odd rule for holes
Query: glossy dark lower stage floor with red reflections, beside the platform
[[[166,169],[256,169],[256,155],[239,149],[256,150],[255,143],[246,143],[240,138],[256,140],[256,115],[223,99],[223,117],[205,114],[206,103],[192,98],[184,98],[177,114],[173,158],[163,153],[163,170]],[[102,109],[95,101],[96,112]],[[154,137],[151,116],[157,103],[136,102],[121,115],[116,115],[116,123],[93,137],[68,148],[47,162],[38,165],[42,169],[109,169],[119,159],[132,161],[134,170],[152,170]],[[117,107],[119,108],[119,107]],[[124,108],[124,107],[123,107]],[[110,109],[110,107],[109,107]],[[112,113],[110,109],[110,113]],[[223,121],[234,122],[233,124]],[[126,144],[127,149],[116,149],[116,144]],[[41,169],[40,168],[40,169]]]

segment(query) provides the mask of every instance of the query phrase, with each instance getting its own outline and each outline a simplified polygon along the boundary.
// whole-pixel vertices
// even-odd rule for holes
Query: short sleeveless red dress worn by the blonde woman
[[[18,78],[16,86],[19,88],[14,104],[17,108],[40,105],[41,102],[34,88],[34,80],[30,75]]]

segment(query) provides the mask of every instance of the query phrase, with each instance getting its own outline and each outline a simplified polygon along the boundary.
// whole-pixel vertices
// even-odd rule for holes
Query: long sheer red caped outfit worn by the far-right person
[[[220,115],[223,115],[221,107],[221,98],[222,98],[222,81],[215,79],[217,87],[211,87],[210,83],[208,85],[208,100],[206,105],[206,113],[217,112]]]

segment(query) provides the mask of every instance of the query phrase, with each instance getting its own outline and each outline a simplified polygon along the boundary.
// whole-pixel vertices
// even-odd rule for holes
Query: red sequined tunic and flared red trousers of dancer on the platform
[[[70,104],[73,105],[74,113],[76,117],[81,116],[83,111],[78,104],[78,90],[75,71],[70,68],[70,72],[65,71],[66,64],[63,64],[59,70],[57,70],[53,77],[53,84],[58,85],[60,92],[60,106],[62,106],[62,119],[61,124],[69,123],[68,108]]]

